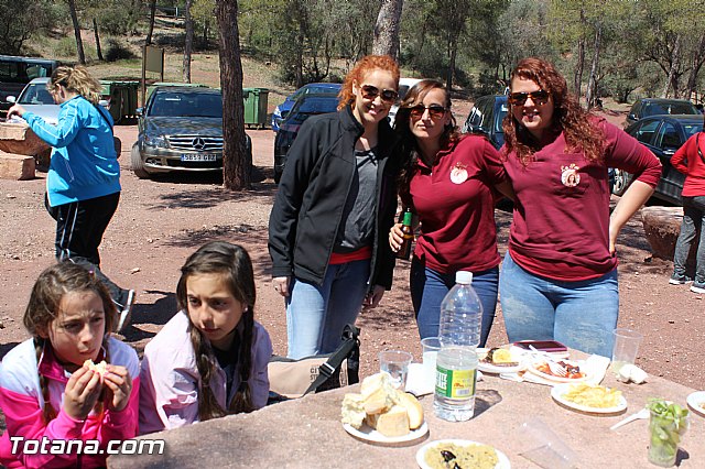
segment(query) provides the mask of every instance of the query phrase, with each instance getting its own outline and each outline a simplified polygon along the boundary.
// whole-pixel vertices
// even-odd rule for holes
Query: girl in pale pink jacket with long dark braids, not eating
[[[254,321],[254,274],[236,244],[204,244],[181,269],[177,313],[144,349],[140,432],[263,407],[269,334]]]

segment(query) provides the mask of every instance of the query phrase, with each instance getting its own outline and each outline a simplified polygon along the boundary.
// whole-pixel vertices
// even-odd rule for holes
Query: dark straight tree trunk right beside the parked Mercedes
[[[223,89],[223,183],[225,188],[250,188],[251,154],[246,148],[242,63],[238,32],[238,2],[216,0]]]

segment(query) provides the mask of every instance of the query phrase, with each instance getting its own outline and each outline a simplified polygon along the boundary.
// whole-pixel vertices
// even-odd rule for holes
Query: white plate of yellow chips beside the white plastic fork
[[[553,386],[551,397],[566,407],[592,414],[617,414],[627,410],[621,391],[585,383],[563,383]]]

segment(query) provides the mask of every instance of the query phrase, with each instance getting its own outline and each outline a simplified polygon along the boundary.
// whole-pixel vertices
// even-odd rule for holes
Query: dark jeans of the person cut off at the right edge
[[[691,244],[695,240],[697,231],[701,232],[697,255],[695,258],[695,283],[705,285],[705,196],[683,197],[683,223],[681,234],[675,243],[673,257],[673,275],[685,276],[685,263]]]

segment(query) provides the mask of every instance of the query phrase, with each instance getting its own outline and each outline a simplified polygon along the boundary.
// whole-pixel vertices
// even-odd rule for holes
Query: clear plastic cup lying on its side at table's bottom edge
[[[519,455],[544,469],[572,469],[577,467],[577,456],[540,418],[521,424],[518,430]]]

